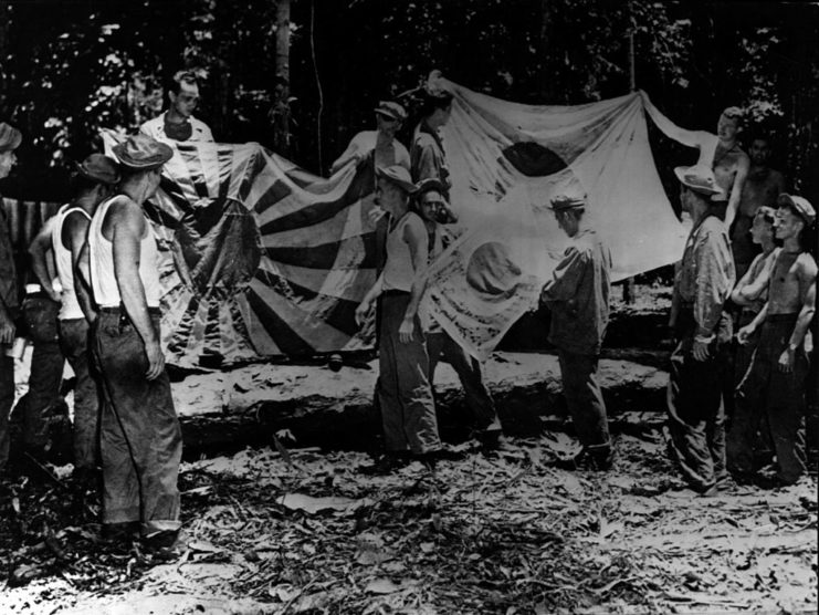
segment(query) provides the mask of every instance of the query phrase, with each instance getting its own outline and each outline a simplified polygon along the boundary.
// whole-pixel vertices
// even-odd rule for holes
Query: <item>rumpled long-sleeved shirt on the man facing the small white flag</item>
[[[600,354],[609,324],[611,252],[595,231],[576,234],[540,300],[549,303],[549,342],[577,354]]]

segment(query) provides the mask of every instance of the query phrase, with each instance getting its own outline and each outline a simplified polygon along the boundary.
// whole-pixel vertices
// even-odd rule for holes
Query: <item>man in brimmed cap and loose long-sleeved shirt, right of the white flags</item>
[[[710,177],[682,180],[683,210],[693,228],[674,274],[671,303],[678,345],[669,374],[669,451],[691,488],[711,496],[727,479],[723,383],[728,379],[732,326],[724,304],[734,285],[734,261],[723,208],[708,198],[720,186]]]

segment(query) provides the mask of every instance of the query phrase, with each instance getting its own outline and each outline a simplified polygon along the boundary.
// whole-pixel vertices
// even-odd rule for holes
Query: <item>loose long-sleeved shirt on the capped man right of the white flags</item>
[[[725,223],[706,213],[689,233],[674,279],[674,294],[693,311],[696,335],[707,337],[734,286],[734,258]]]

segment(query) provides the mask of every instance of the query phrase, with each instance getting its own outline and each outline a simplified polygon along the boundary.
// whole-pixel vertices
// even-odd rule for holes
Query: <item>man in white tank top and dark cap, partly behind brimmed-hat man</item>
[[[99,393],[88,369],[88,323],[96,317],[91,291],[78,271],[80,252],[88,234],[88,223],[97,205],[107,198],[119,180],[115,160],[92,154],[76,165],[74,200],[54,217],[51,244],[62,286],[60,343],[76,376],[74,387],[74,471],[92,483],[96,480],[99,442],[97,427]]]

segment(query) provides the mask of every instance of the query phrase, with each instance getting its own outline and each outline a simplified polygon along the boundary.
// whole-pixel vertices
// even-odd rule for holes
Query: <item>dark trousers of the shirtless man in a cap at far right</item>
[[[767,426],[776,452],[777,476],[796,482],[805,472],[805,385],[808,357],[797,348],[792,372],[779,371],[779,356],[787,348],[796,314],[768,316],[750,368],[736,392],[736,415],[728,434],[728,467],[747,473],[753,470],[756,429]]]

